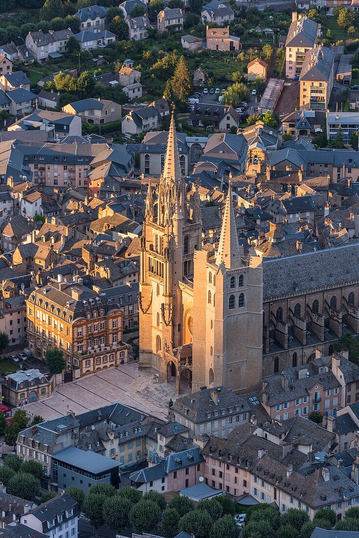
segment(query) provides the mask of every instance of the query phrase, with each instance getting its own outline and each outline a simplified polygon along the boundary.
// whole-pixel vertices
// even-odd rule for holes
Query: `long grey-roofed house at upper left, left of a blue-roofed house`
[[[25,43],[34,59],[41,63],[46,62],[48,56],[57,58],[59,54],[67,52],[67,40],[73,35],[72,30],[50,30],[48,33],[39,30],[38,32],[29,32]]]

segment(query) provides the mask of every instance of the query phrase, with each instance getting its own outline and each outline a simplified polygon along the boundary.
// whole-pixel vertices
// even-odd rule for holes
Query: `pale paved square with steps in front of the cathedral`
[[[126,363],[58,385],[50,398],[28,404],[24,409],[27,414],[39,414],[50,420],[65,415],[68,409],[78,415],[121,401],[164,419],[168,401],[175,400],[174,392],[173,383],[158,384],[153,373],[138,370],[138,363]]]

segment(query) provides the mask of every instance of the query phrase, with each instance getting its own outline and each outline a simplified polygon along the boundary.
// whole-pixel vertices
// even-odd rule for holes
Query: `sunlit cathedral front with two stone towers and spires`
[[[230,189],[217,250],[202,250],[200,198],[187,199],[173,114],[156,200],[147,191],[138,303],[140,366],[175,381],[177,394],[262,379],[262,259],[244,258]]]

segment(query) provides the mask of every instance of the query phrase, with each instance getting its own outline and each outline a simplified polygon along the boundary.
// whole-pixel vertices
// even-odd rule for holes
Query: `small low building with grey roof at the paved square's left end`
[[[2,381],[4,400],[14,407],[48,398],[55,388],[55,376],[30,368],[8,374]]]

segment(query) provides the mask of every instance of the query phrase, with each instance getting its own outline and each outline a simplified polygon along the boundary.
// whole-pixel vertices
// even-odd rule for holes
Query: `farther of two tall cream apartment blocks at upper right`
[[[292,13],[292,24],[285,42],[285,76],[293,79],[301,73],[306,53],[316,45],[320,35],[318,23],[308,17]]]

